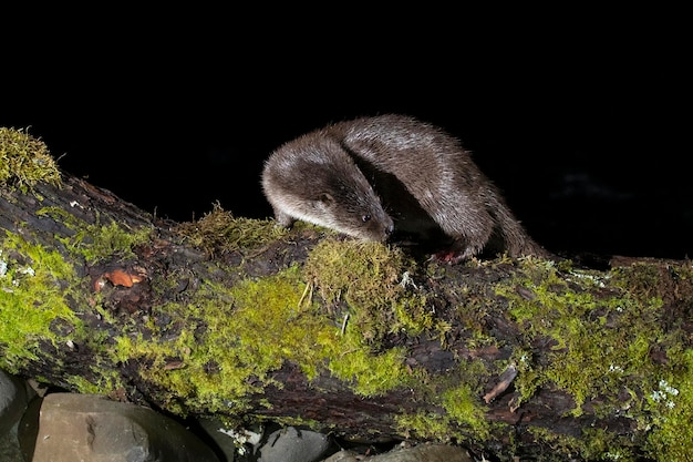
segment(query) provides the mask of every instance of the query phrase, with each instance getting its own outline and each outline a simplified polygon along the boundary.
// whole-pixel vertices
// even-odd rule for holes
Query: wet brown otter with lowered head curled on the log
[[[448,261],[483,251],[549,255],[525,232],[462,143],[408,115],[332,123],[265,162],[262,191],[282,226],[297,219],[362,240],[449,240]]]

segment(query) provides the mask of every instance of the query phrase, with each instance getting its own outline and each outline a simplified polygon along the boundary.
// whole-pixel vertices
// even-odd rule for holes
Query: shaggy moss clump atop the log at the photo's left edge
[[[27,131],[0,127],[0,186],[27,193],[39,182],[60,186],[60,171],[42,141]]]

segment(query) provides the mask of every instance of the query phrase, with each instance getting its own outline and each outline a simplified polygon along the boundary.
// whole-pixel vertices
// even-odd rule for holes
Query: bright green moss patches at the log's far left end
[[[38,214],[50,216],[74,229],[75,233],[62,243],[77,261],[82,257],[91,263],[113,254],[122,258],[134,257],[134,247],[149,239],[148,228],[126,230],[115,222],[107,226],[86,225],[56,207],[44,208]],[[89,311],[94,309],[106,322],[114,324],[113,319],[108,319],[111,314],[97,304],[99,297],[84,288],[86,284],[89,280],[77,276],[72,264],[59,251],[45,250],[8,232],[0,245],[0,347],[3,351],[0,363],[14,371],[29,362],[41,361],[39,346],[42,355],[45,355],[45,343],[52,343],[69,355],[76,343],[83,350],[93,351],[96,361],[92,368],[93,376],[82,381],[66,378],[64,386],[103,394],[113,392],[114,387],[120,388],[108,366],[99,366],[104,339],[85,337],[81,320],[85,314],[73,311],[75,307],[84,307]],[[85,300],[86,297],[93,298]],[[54,361],[60,365],[58,358]]]

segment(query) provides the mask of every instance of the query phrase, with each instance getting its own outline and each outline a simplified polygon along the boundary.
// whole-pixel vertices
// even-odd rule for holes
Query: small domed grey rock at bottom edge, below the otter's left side
[[[257,462],[317,462],[332,444],[321,433],[287,427],[272,432],[256,450]]]

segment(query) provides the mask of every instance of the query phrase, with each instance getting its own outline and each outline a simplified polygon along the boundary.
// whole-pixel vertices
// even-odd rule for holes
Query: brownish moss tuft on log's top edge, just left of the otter
[[[207,255],[252,248],[288,233],[271,220],[236,218],[218,203],[200,219],[183,223],[176,230]]]

